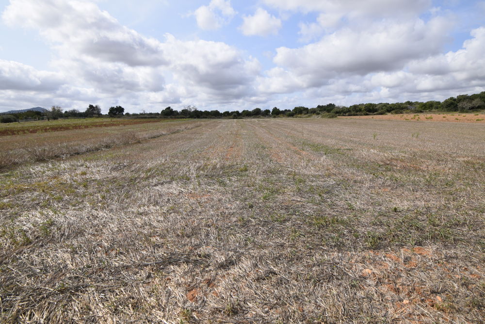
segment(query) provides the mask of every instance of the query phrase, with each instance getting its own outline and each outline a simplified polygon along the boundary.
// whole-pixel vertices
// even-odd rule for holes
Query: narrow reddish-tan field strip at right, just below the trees
[[[377,119],[377,120],[410,120],[410,121],[440,121],[453,123],[485,124],[485,113],[398,113],[387,115],[345,116],[339,118]]]

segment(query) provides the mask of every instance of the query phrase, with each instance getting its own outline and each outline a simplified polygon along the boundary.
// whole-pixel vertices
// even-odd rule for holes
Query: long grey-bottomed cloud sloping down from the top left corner
[[[38,30],[63,55],[130,66],[166,64],[161,44],[118,23],[84,0],[13,0],[2,14],[10,26]]]

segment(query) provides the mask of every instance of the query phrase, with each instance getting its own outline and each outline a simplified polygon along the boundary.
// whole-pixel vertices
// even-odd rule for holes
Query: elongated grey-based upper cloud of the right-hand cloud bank
[[[278,48],[274,61],[315,81],[341,73],[365,75],[393,70],[438,53],[448,28],[448,22],[439,17],[427,23],[420,19],[378,22],[363,31],[343,28],[301,48]]]

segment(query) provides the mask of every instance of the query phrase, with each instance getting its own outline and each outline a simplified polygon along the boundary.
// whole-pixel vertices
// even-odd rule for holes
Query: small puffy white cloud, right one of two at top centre
[[[240,29],[246,36],[277,34],[281,28],[281,20],[261,8],[253,16],[243,16],[242,19]]]

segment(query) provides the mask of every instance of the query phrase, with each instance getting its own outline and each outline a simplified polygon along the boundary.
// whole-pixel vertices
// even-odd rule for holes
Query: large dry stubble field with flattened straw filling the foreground
[[[0,322],[484,322],[483,125],[170,127],[0,174]]]

